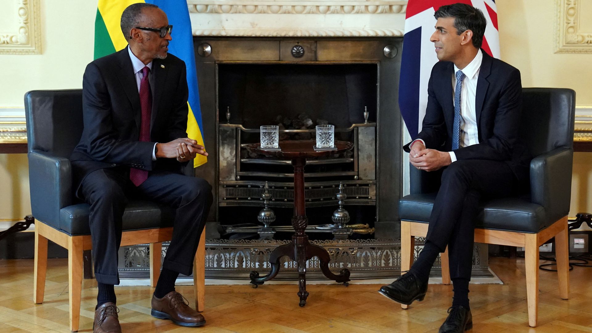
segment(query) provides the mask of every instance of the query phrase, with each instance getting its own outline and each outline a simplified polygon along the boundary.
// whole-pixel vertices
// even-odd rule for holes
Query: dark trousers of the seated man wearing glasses
[[[176,209],[173,236],[163,267],[190,275],[201,232],[213,202],[212,187],[202,178],[168,171],[150,172],[135,187],[125,168],[98,169],[82,181],[79,195],[91,206],[92,253],[99,283],[119,284],[117,251],[128,198],[143,198]]]

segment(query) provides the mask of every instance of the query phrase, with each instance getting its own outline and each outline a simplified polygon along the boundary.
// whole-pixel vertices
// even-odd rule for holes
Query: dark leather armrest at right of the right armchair
[[[574,151],[556,148],[530,161],[530,200],[545,207],[549,219],[570,212]]]

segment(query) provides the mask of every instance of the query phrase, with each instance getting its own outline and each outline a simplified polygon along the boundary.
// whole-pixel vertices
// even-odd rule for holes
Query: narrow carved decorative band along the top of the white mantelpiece
[[[334,2],[334,1],[333,1]],[[404,14],[407,1],[354,1],[305,4],[296,1],[189,0],[189,12],[210,14]]]

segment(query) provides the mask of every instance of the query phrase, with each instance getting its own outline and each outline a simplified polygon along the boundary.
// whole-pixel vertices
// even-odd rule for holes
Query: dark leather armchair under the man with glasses
[[[82,251],[92,249],[89,206],[73,195],[68,157],[82,136],[82,90],[30,91],[25,94],[31,209],[35,225],[33,299],[43,302],[47,239],[68,249],[70,329],[78,331]],[[186,169],[193,175],[192,162]],[[150,244],[150,283],[160,274],[162,242],[170,241],[175,211],[145,200],[130,200],[123,216],[121,246]],[[196,308],[204,308],[205,232],[194,264]],[[201,260],[200,260],[201,259]]]

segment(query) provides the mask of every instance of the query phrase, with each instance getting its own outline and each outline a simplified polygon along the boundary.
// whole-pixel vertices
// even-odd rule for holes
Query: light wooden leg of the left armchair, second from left
[[[70,331],[78,332],[82,292],[82,236],[68,238],[68,292],[70,297]]]

